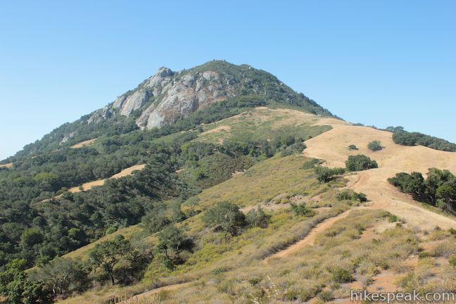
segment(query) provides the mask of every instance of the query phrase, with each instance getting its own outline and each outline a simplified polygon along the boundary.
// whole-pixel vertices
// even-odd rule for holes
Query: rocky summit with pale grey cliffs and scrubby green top
[[[261,82],[262,77],[271,78],[270,87]],[[267,96],[267,91],[274,89],[291,91],[277,78],[250,65],[210,61],[179,72],[163,67],[136,89],[127,91],[113,103],[96,110],[87,123],[101,122],[116,114],[126,117],[135,115],[135,122],[141,129],[151,129],[172,123],[176,118],[215,101],[246,94]]]

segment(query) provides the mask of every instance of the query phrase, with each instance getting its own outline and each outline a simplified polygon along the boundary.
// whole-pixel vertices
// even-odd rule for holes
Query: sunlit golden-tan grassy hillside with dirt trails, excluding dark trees
[[[195,140],[217,143],[233,137],[242,139],[246,136],[242,133],[246,118],[251,118],[253,129],[261,130],[264,125],[274,129],[271,126],[283,121],[284,113],[289,122],[296,123],[300,118],[300,123],[309,127],[330,125],[331,129],[305,141],[308,147],[303,155],[274,156],[198,194],[198,208],[202,210],[220,201],[236,203],[245,213],[260,205],[272,216],[267,227],[246,227],[239,236],[223,240],[223,236],[205,228],[200,215],[191,217],[179,227],[198,240],[198,250],[183,265],[169,271],[153,264],[146,279],[137,285],[89,292],[62,303],[101,303],[131,295],[139,295],[144,303],[158,299],[161,303],[294,303],[322,299],[345,303],[350,288],[399,291],[433,290],[438,286],[439,290],[451,290],[455,281],[448,281],[448,276],[455,272],[448,257],[456,253],[456,248],[452,246],[454,237],[445,230],[456,227],[456,220],[423,208],[389,185],[386,178],[402,170],[426,172],[432,165],[453,170],[456,154],[399,146],[393,143],[391,132],[267,108],[205,125],[206,131]],[[260,131],[256,135],[262,134]],[[373,139],[381,140],[382,151],[365,148]],[[359,150],[348,150],[349,144],[356,144]],[[355,153],[374,158],[379,169],[349,173],[321,184],[312,166],[307,165],[312,158],[319,158],[331,167],[343,166]],[[410,155],[414,158],[407,158]],[[426,157],[431,159],[427,163]],[[369,201],[338,201],[338,193],[347,187],[364,192]],[[312,212],[298,216],[291,203],[305,203]],[[400,218],[400,224],[391,222],[392,215]],[[140,227],[134,229],[137,234],[144,233]],[[125,235],[131,232],[126,230]],[[145,240],[156,243],[156,238],[155,234]],[[71,256],[84,258],[87,250],[82,248]],[[424,256],[420,252],[426,253],[426,258],[418,258]],[[426,279],[429,276],[433,279]],[[416,281],[407,281],[408,277],[416,277]],[[144,293],[148,289],[152,290]]]

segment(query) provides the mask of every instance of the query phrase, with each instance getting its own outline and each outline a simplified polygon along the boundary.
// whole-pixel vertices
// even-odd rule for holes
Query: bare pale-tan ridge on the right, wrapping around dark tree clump
[[[371,208],[387,210],[424,229],[456,227],[455,220],[420,207],[386,180],[398,172],[417,171],[426,175],[430,167],[456,172],[456,153],[424,146],[400,146],[394,144],[391,132],[353,126],[342,120],[323,118],[317,125],[331,125],[333,129],[305,141],[308,146],[305,156],[326,160],[329,167],[345,167],[348,156],[356,154],[364,154],[379,163],[378,169],[357,172],[349,177],[348,188],[367,194]],[[373,140],[381,141],[385,148],[370,151],[367,144]],[[359,150],[348,150],[350,144],[355,144]]]

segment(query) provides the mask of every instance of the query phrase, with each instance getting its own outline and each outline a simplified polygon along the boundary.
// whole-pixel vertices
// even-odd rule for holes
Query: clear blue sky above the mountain
[[[248,3],[246,3],[248,2]],[[331,112],[456,141],[456,1],[1,1],[0,159],[213,58]]]

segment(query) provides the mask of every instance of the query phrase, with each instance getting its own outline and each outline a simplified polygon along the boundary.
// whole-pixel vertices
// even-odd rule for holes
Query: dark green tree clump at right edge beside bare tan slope
[[[427,178],[419,172],[401,172],[388,179],[393,186],[417,201],[436,205],[456,214],[456,177],[448,170],[429,169]]]

